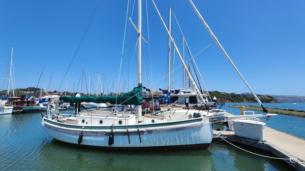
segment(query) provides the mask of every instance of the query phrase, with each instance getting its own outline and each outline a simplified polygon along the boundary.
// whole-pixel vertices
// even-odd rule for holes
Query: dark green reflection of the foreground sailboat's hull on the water
[[[57,140],[41,150],[43,165],[52,170],[212,170],[214,165],[209,150],[101,150]]]

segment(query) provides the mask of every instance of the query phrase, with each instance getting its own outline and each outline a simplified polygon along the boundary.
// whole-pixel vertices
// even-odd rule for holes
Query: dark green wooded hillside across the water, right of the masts
[[[219,91],[209,91],[210,96],[213,98],[217,97],[218,101],[223,102],[257,102],[252,94],[242,93],[225,93]],[[257,95],[262,102],[279,102],[277,99],[273,98],[271,95]]]

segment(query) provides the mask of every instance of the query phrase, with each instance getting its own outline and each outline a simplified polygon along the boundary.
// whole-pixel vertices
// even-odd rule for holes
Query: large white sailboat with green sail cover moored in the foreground
[[[170,111],[162,111],[142,117],[141,4],[142,1],[138,0],[138,86],[118,96],[60,96],[53,99],[77,104],[110,102],[111,104],[135,105],[136,110],[117,111],[114,108],[111,111],[96,110],[82,113],[76,109],[76,115],[62,116],[55,107],[54,110],[47,112],[41,122],[43,130],[54,139],[82,146],[120,150],[206,149],[209,147],[212,141],[210,114],[205,115],[198,110],[189,110],[185,111],[184,115],[176,116],[167,114]],[[175,48],[177,50],[176,46]],[[182,64],[188,72],[184,61]],[[188,75],[190,76],[189,72]],[[196,89],[192,78],[189,79]],[[203,97],[201,96],[200,99],[202,100]]]

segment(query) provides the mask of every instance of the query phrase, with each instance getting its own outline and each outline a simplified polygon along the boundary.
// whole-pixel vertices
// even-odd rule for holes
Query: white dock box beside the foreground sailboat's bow
[[[264,141],[266,123],[248,119],[235,119],[232,121],[236,136],[251,140]]]

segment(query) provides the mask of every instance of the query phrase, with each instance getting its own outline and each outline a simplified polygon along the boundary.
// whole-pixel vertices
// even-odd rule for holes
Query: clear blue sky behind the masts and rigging
[[[144,69],[143,84],[151,87],[153,82],[155,89],[165,88],[168,38],[153,4],[147,2],[152,61],[148,44],[143,43],[148,85]],[[7,78],[11,46],[14,46],[16,86],[36,86],[41,69],[46,65],[44,87],[48,87],[52,75],[51,89],[57,90],[97,3],[97,0],[0,1],[0,76]],[[166,23],[168,7],[173,8],[193,54],[212,42],[188,1],[156,0],[156,4]],[[256,93],[305,95],[304,1],[194,0],[194,4]],[[145,6],[143,1],[142,29],[148,40]],[[112,81],[117,84],[126,11],[127,1],[101,0],[68,72],[68,91],[72,90],[73,82],[76,89],[82,70],[85,70],[87,82],[88,75],[92,75],[95,90],[98,72],[105,73],[110,85]],[[132,19],[137,25],[136,8]],[[181,35],[174,20],[172,30],[181,51]],[[137,53],[133,57],[135,45],[136,32],[128,22],[121,81],[129,82],[131,87],[137,84]],[[185,55],[189,58],[187,50]],[[195,60],[208,90],[249,92],[216,44]],[[178,65],[176,55],[175,68]],[[153,81],[150,70],[153,71]],[[174,75],[175,88],[180,88],[181,69]],[[2,78],[0,89],[6,89],[7,81]],[[60,90],[65,90],[65,82]]]

